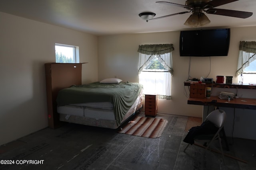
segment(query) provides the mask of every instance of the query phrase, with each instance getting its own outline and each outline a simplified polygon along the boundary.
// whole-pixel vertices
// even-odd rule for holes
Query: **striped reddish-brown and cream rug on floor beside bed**
[[[118,131],[118,133],[158,138],[162,135],[167,123],[168,121],[162,118],[136,116],[132,121],[125,125],[121,131]]]

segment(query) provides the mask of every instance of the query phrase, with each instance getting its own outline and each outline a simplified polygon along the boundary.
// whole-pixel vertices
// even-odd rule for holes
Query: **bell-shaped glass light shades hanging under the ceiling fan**
[[[211,21],[208,17],[202,12],[194,12],[190,17],[186,20],[184,25],[190,27],[204,26],[209,24]]]

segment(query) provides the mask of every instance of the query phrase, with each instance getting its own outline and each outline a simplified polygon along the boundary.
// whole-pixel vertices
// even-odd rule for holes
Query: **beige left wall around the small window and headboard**
[[[76,45],[82,82],[98,80],[94,35],[0,12],[0,145],[48,127],[44,63],[55,62],[55,43]]]

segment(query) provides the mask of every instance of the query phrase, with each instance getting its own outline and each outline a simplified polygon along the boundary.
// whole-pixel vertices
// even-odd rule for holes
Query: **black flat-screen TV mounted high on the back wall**
[[[180,31],[180,56],[227,56],[230,28]]]

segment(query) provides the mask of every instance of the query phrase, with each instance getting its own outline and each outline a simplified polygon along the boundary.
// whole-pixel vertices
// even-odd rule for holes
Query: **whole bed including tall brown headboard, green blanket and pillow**
[[[141,84],[110,78],[82,85],[83,64],[86,65],[85,63],[45,63],[47,117],[50,128],[56,129],[70,122],[117,129],[141,109]],[[86,87],[90,87],[90,90],[87,90],[89,92],[99,91],[100,88],[103,89],[102,92],[106,92],[106,89],[109,89],[110,94],[104,96],[100,93],[81,93],[81,89]],[[130,93],[129,90],[134,92]],[[117,99],[118,92],[125,95],[119,94]],[[65,97],[66,95],[68,97]]]

